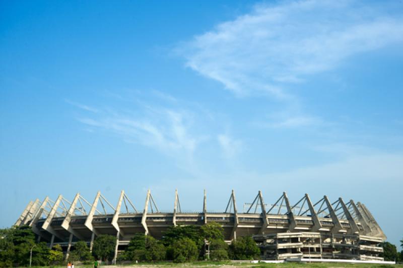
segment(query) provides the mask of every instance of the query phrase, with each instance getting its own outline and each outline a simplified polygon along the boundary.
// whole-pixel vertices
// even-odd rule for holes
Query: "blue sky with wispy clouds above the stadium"
[[[403,4],[0,3],[0,226],[124,189],[360,201],[403,237]]]

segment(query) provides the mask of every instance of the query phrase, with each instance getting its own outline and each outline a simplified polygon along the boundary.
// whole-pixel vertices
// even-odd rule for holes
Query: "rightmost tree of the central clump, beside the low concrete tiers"
[[[256,259],[260,255],[259,248],[250,236],[239,237],[232,241],[229,249],[232,259]]]

